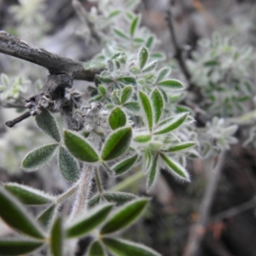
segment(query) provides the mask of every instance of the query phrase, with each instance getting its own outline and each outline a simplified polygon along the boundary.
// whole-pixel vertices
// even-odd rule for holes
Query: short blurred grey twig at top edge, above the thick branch
[[[96,32],[96,28],[94,24],[89,20],[88,13],[84,9],[84,6],[77,0],[72,1],[73,8],[75,9],[77,15],[79,16],[79,19],[84,23],[84,25],[87,25],[90,29],[90,35],[92,38],[95,38],[97,43],[101,43],[101,38]]]

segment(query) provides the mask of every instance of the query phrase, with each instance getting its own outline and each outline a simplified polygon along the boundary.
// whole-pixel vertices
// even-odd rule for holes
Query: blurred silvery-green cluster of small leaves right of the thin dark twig
[[[202,53],[194,52],[189,67],[206,98],[207,113],[233,117],[246,111],[253,91],[248,79],[253,49],[236,46],[217,33],[211,40],[201,40],[200,46]]]

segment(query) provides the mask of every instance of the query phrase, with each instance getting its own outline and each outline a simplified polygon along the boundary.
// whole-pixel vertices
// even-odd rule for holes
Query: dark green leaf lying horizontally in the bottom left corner
[[[32,251],[43,246],[43,244],[43,241],[28,240],[24,238],[0,240],[0,255],[10,256],[32,253]]]

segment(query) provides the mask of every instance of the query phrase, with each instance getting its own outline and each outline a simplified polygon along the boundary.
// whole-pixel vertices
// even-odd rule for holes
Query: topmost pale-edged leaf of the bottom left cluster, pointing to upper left
[[[3,184],[3,187],[24,205],[44,205],[55,201],[54,196],[47,195],[39,189],[32,189],[26,185],[5,183]]]

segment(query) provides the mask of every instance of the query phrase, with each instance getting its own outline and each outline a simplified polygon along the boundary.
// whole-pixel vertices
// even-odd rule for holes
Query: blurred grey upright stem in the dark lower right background
[[[189,232],[189,239],[185,247],[183,256],[196,256],[201,245],[201,240],[206,231],[206,225],[209,219],[210,207],[212,206],[213,196],[215,194],[218,179],[221,174],[221,170],[224,164],[224,152],[218,157],[218,163],[211,172],[210,177],[206,184],[206,190],[204,192],[201,207],[199,209],[199,218]]]

